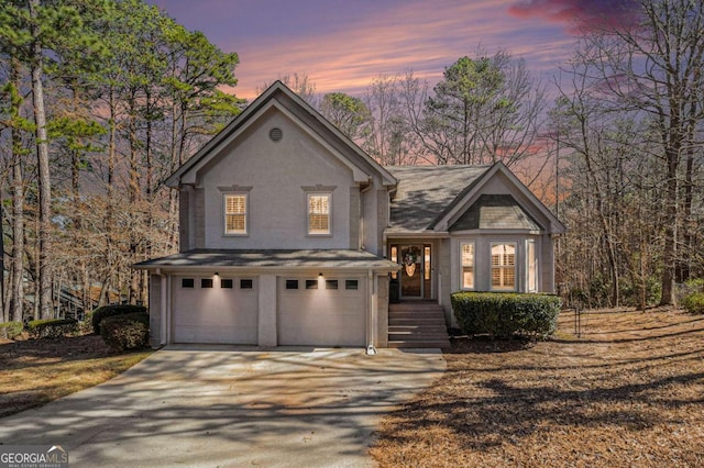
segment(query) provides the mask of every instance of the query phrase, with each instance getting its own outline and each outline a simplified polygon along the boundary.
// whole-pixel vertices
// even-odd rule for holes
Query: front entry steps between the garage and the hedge
[[[388,304],[388,347],[450,347],[442,305],[429,301]]]

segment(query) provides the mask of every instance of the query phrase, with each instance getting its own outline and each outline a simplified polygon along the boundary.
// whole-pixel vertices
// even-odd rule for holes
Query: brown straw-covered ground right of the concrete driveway
[[[382,467],[704,467],[704,316],[571,312],[536,344],[455,341],[387,416]]]

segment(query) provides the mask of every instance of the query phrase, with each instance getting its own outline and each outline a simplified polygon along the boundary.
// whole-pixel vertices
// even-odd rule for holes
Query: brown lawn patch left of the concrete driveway
[[[0,417],[113,378],[152,352],[112,352],[97,335],[0,343]]]

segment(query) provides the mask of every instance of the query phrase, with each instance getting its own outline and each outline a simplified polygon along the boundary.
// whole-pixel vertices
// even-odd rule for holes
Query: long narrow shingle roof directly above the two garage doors
[[[359,250],[244,250],[195,249],[154,258],[134,265],[135,268],[345,268],[397,269],[398,266],[369,252]]]

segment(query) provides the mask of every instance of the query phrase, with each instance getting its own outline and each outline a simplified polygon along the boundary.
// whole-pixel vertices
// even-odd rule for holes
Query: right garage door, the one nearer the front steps
[[[364,346],[363,278],[278,278],[279,345]]]

